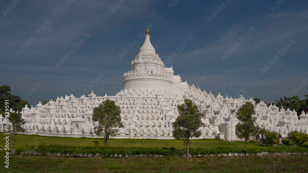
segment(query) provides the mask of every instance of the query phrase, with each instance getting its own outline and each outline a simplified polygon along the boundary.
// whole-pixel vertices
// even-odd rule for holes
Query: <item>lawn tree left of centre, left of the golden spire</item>
[[[118,129],[122,128],[120,106],[115,105],[114,101],[109,99],[103,101],[98,107],[93,109],[92,120],[97,121],[98,126],[94,127],[97,136],[104,136],[106,149],[110,136],[116,136]]]

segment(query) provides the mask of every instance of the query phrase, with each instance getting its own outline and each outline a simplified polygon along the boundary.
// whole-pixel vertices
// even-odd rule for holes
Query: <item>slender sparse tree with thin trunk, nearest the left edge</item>
[[[10,132],[12,133],[13,136],[13,142],[12,142],[12,146],[11,146],[11,153],[13,153],[14,151],[14,141],[15,141],[15,135],[17,132],[25,132],[25,129],[22,128],[22,125],[24,125],[26,122],[22,119],[22,114],[21,113],[17,113],[17,112],[10,112],[9,116],[7,115],[2,115],[3,118],[7,118],[8,121],[6,122],[10,122],[9,123],[5,123],[4,125],[4,130],[6,132]]]

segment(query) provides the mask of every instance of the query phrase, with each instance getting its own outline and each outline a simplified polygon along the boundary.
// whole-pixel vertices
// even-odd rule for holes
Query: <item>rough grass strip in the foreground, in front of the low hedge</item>
[[[3,158],[3,154],[0,154]],[[10,169],[1,172],[308,172],[307,155],[234,157],[71,158],[10,155]]]

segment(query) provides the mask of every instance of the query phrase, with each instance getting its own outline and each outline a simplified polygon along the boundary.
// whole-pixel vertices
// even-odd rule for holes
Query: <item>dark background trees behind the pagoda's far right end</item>
[[[306,95],[305,95],[306,96]],[[297,115],[301,115],[302,111],[307,108],[308,99],[301,100],[298,96],[293,97],[284,97],[280,98],[279,101],[276,100],[277,106],[281,109],[283,108],[287,109],[290,108],[291,111],[295,109],[297,112]]]

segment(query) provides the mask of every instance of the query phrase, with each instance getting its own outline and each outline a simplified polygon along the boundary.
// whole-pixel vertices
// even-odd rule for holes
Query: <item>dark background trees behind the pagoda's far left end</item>
[[[20,96],[12,95],[11,94],[11,87],[8,85],[2,85],[0,87],[0,114],[4,115],[4,104],[5,100],[9,100],[10,108],[15,112],[20,112],[22,108],[27,105],[30,107],[30,104],[26,100],[22,100]]]

